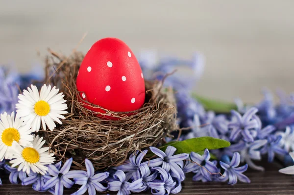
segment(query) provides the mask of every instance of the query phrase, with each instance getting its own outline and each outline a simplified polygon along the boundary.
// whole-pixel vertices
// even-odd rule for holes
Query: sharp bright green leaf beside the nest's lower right
[[[168,143],[165,146],[159,147],[159,149],[165,151],[168,146],[173,146],[176,148],[175,154],[180,153],[190,153],[190,152],[201,152],[207,149],[219,149],[223,147],[228,147],[231,144],[225,140],[213,138],[213,137],[200,137],[192,138],[180,142]]]

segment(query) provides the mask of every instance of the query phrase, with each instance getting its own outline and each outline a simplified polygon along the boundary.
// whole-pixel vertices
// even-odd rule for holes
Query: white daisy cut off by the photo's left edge
[[[30,135],[31,130],[23,126],[18,114],[14,117],[14,112],[11,116],[6,112],[0,115],[0,161],[11,159],[11,146],[15,141],[21,146],[31,146],[33,136]]]

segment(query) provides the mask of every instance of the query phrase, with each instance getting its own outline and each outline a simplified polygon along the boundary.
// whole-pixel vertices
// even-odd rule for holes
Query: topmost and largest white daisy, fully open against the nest
[[[55,122],[62,124],[59,119],[65,119],[62,114],[68,113],[65,111],[68,107],[66,100],[63,99],[64,95],[58,94],[59,89],[55,86],[51,89],[50,85],[44,85],[39,94],[37,87],[31,85],[31,88],[28,87],[27,90],[24,90],[23,95],[19,95],[20,100],[16,108],[22,120],[33,131],[40,130],[41,121],[44,130],[46,130],[46,124],[51,131],[56,127]]]

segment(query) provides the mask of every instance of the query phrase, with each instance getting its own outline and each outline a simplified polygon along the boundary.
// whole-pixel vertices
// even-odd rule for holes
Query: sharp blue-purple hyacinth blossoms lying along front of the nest
[[[79,189],[73,195],[96,195],[96,192],[113,191],[118,195],[130,195],[151,191],[153,195],[177,194],[182,190],[181,182],[185,180],[185,173],[193,172],[195,181],[228,181],[236,184],[237,180],[249,183],[250,180],[242,174],[247,165],[239,167],[240,154],[234,153],[232,159],[220,162],[223,169],[217,167],[217,161],[209,161],[210,154],[206,149],[203,155],[195,152],[189,154],[175,154],[176,148],[168,146],[165,152],[150,147],[156,155],[152,160],[146,158],[148,150],[137,151],[131,155],[125,164],[112,168],[106,172],[95,172],[90,160],[85,159],[87,171],[71,171],[73,159],[69,159],[62,166],[61,162],[49,165],[47,174],[26,174],[5,164],[3,169],[10,172],[9,180],[12,184],[32,185],[38,192],[49,191],[53,195],[62,195],[64,188],[72,188],[74,184]]]

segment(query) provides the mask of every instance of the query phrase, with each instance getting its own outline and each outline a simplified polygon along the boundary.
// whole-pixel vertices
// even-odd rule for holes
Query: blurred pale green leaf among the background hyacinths
[[[231,110],[237,110],[237,105],[235,103],[230,103],[221,100],[209,99],[206,97],[201,97],[196,94],[192,94],[199,103],[201,103],[206,110],[212,110],[216,113],[229,113]]]

